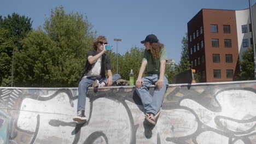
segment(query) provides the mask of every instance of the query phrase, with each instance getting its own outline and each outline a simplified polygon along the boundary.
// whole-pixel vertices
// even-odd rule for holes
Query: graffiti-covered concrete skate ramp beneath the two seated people
[[[256,81],[169,85],[155,127],[132,86],[89,88],[75,123],[77,90],[0,87],[0,143],[256,143]]]

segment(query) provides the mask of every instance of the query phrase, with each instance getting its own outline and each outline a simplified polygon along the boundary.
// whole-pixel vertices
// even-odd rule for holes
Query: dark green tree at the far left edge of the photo
[[[31,29],[32,22],[28,17],[15,13],[0,15],[0,86],[11,86],[13,50],[21,49],[20,41]]]

